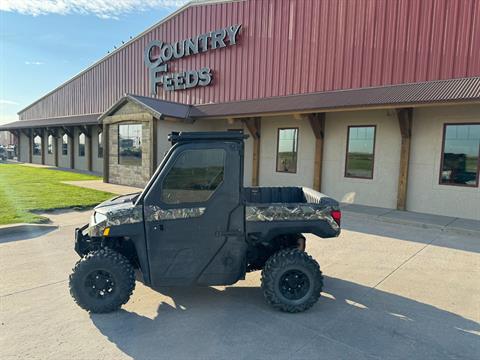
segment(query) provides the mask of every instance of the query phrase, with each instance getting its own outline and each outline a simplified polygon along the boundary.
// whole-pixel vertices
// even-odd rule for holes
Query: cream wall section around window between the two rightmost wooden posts
[[[371,180],[346,178],[344,175],[349,125],[376,125]],[[398,120],[387,110],[327,113],[322,192],[346,203],[396,208],[400,144]]]

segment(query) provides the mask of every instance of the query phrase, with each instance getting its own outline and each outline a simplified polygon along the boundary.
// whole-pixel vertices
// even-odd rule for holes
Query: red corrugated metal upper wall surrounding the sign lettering
[[[237,101],[480,75],[480,0],[246,0],[191,6],[46,96],[22,119],[105,111],[149,96],[148,42],[243,24],[235,46],[170,63],[209,66],[207,87],[159,91],[184,103]]]

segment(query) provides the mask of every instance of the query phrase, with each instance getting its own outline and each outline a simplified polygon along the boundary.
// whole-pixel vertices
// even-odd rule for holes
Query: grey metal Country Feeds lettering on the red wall
[[[144,61],[149,68],[151,94],[156,95],[157,87],[160,85],[166,91],[185,90],[209,85],[212,82],[212,70],[209,67],[203,67],[200,70],[169,73],[168,62],[201,52],[235,45],[241,27],[241,24],[231,25],[189,39],[175,41],[171,44],[166,44],[160,40],[151,41],[145,48],[144,53]],[[152,58],[154,50],[158,54],[156,58]]]

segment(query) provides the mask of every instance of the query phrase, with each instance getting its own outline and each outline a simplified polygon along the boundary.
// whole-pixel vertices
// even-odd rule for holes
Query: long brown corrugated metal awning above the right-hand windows
[[[197,105],[193,107],[190,116],[192,118],[234,117],[265,113],[305,113],[359,107],[405,107],[475,101],[480,101],[480,77]]]

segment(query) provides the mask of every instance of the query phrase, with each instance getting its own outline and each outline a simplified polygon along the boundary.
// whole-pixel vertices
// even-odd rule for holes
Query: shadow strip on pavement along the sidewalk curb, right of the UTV
[[[344,230],[384,236],[393,239],[446,247],[455,250],[480,253],[480,241],[475,235],[442,231],[436,228],[422,228],[414,225],[382,222],[351,215],[342,219]]]

